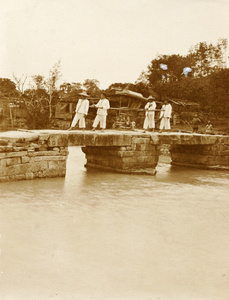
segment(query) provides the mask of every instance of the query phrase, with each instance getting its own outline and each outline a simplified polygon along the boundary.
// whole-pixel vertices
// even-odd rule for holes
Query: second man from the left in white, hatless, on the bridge
[[[102,131],[106,128],[106,119],[107,119],[107,110],[110,108],[110,102],[106,99],[106,95],[104,93],[101,94],[101,99],[94,107],[97,107],[97,115],[92,125],[92,130],[94,131],[97,125],[100,123],[100,128]]]

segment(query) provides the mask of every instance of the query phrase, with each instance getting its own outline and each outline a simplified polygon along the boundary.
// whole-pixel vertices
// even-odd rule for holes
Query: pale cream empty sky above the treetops
[[[0,77],[134,83],[158,54],[229,40],[228,0],[0,0]]]

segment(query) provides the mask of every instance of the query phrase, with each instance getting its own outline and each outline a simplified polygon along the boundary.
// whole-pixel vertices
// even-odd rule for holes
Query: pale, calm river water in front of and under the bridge
[[[0,185],[0,299],[229,299],[229,174],[84,168]]]

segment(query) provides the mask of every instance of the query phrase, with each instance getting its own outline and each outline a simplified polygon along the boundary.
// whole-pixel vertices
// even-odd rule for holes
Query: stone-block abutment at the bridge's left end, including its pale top
[[[66,174],[67,136],[7,132],[0,135],[0,182]]]

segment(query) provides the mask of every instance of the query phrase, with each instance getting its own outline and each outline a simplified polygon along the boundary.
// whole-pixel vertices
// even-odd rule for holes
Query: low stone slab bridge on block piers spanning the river
[[[229,136],[20,130],[0,133],[0,182],[65,176],[68,146],[82,146],[86,167],[154,175],[162,144],[173,165],[229,170]]]

